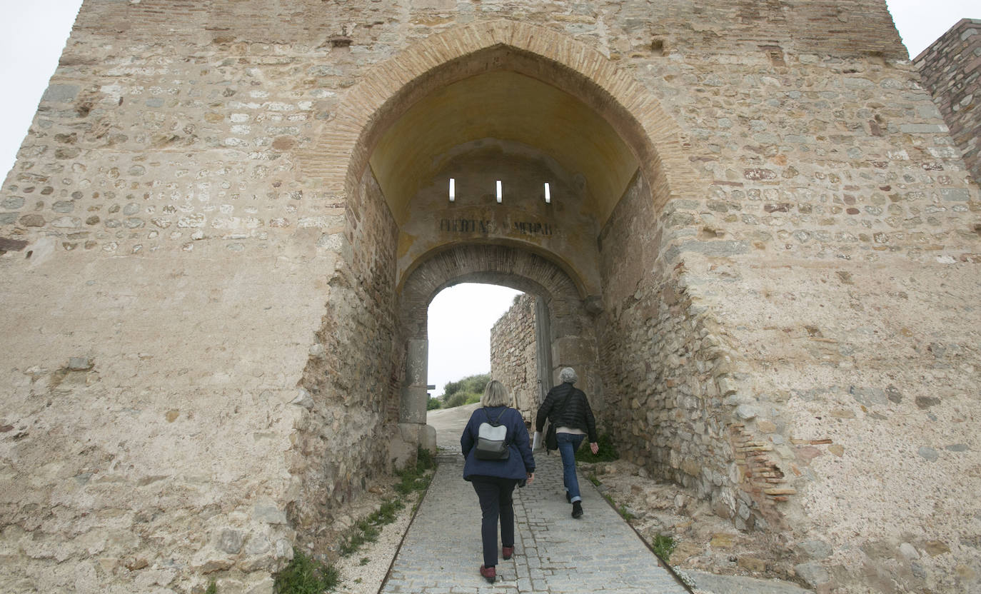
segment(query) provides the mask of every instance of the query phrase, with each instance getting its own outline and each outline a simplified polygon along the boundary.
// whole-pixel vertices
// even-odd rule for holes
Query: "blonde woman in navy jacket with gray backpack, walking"
[[[469,480],[481,502],[481,538],[484,541],[484,565],[481,575],[491,583],[497,576],[497,520],[500,519],[501,554],[504,560],[514,554],[514,507],[511,495],[519,481],[531,484],[535,479],[535,457],[529,445],[528,429],[521,413],[508,407],[510,398],[504,384],[492,379],[484,388],[482,408],[474,411],[460,436],[460,448],[466,463],[463,478]],[[481,425],[505,427],[503,450],[507,452],[497,460],[478,456]],[[487,432],[485,427],[485,431]],[[499,429],[498,429],[499,430]],[[483,444],[482,448],[483,448]],[[482,452],[484,450],[482,449]]]

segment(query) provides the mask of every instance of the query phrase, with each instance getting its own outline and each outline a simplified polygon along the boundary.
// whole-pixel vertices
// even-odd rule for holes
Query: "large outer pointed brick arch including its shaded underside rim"
[[[695,192],[686,134],[656,98],[594,48],[514,21],[453,27],[374,67],[352,87],[316,145],[298,154],[329,193],[351,195],[385,130],[435,88],[490,68],[527,74],[576,96],[613,126],[641,164],[659,206]],[[357,213],[354,213],[357,216]]]

